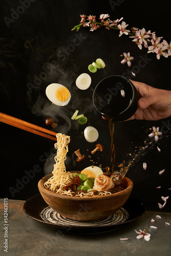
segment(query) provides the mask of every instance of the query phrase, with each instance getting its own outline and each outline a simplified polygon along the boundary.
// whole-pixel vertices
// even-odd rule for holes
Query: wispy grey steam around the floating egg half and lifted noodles
[[[38,117],[42,117],[42,126],[44,126],[47,117],[53,118],[55,123],[57,123],[56,128],[53,129],[53,131],[56,133],[69,135],[71,129],[78,131],[80,124],[76,121],[73,121],[71,117],[75,110],[79,110],[79,114],[84,114],[87,117],[92,112],[94,108],[92,102],[93,88],[90,87],[88,90],[83,91],[76,87],[75,80],[79,74],[74,72],[73,66],[72,68],[70,67],[69,70],[66,70],[66,68],[64,70],[63,67],[59,68],[59,65],[53,61],[53,63],[48,62],[46,65],[44,65],[44,70],[46,70],[46,75],[43,76],[40,73],[36,76],[39,79],[44,77],[44,80],[42,81],[39,81],[38,78],[36,80],[39,81],[38,87],[33,91],[33,93],[36,94],[36,101],[33,102],[33,98],[35,97],[34,94],[30,94],[29,97],[33,102],[31,107],[32,114]],[[52,102],[49,101],[45,94],[46,87],[50,83],[55,82],[66,86],[71,93],[71,100],[65,106],[57,106],[52,104]],[[44,165],[45,175],[52,173],[54,168],[53,165],[55,164],[55,155],[56,152],[53,152],[46,159]],[[67,159],[65,161],[66,169],[70,169],[70,167],[75,165],[73,159],[74,153],[71,152],[70,156],[67,155]]]

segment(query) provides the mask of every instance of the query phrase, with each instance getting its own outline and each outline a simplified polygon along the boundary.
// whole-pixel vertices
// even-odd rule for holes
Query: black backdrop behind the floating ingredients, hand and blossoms
[[[25,3],[25,7],[21,3]],[[147,54],[147,49],[139,50],[129,36],[118,36],[117,31],[100,28],[90,32],[81,28],[78,32],[71,29],[79,24],[80,14],[96,15],[109,13],[111,19],[124,17],[127,29],[134,26],[151,32],[170,42],[170,3],[163,8],[156,1],[1,1],[1,112],[51,129],[45,124],[48,116],[58,123],[55,132],[71,136],[69,153],[66,160],[67,170],[81,170],[89,165],[104,168],[110,165],[110,134],[108,122],[94,110],[92,93],[96,84],[108,75],[124,74],[127,65],[121,65],[123,52],[134,56],[132,67],[146,58],[146,65],[139,69],[134,80],[145,82],[153,87],[170,90],[170,57]],[[17,12],[16,12],[17,11]],[[18,12],[20,14],[18,14]],[[6,18],[5,18],[6,17]],[[8,21],[7,21],[8,20]],[[77,38],[77,40],[75,39]],[[74,40],[75,39],[75,40]],[[75,46],[74,42],[78,45]],[[79,44],[80,42],[80,44]],[[92,74],[88,65],[97,58],[106,63],[103,70]],[[81,91],[75,80],[81,73],[92,77],[91,87]],[[67,106],[52,105],[45,95],[45,89],[52,82],[66,86],[72,95]],[[75,110],[88,117],[86,125],[72,121]],[[132,159],[140,148],[148,144],[149,129],[163,127],[163,137],[158,143],[148,146],[132,165],[127,177],[134,182],[132,197],[140,199],[148,210],[159,210],[161,196],[170,196],[170,129],[169,118],[160,121],[127,121],[115,124],[114,142],[116,166]],[[165,124],[165,126],[163,126]],[[89,158],[96,143],[88,143],[83,137],[87,125],[96,127],[98,142],[104,145],[103,153]],[[42,176],[51,173],[54,164],[54,141],[0,123],[1,138],[1,197],[27,200],[38,194],[37,183]],[[146,141],[146,144],[145,144]],[[161,153],[157,151],[157,145]],[[86,159],[76,162],[74,151],[80,148]],[[92,160],[92,161],[91,161]],[[142,168],[143,162],[147,169]],[[163,175],[159,171],[165,169]],[[157,189],[157,186],[160,186]],[[170,197],[161,211],[170,211]]]

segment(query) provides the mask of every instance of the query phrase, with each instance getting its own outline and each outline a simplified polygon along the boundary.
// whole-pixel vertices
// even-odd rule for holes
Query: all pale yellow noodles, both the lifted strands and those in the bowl
[[[55,164],[54,169],[52,171],[53,176],[49,178],[48,181],[45,182],[44,186],[58,193],[60,195],[74,196],[74,197],[98,197],[98,196],[106,196],[111,195],[110,191],[100,191],[98,195],[95,195],[93,191],[89,193],[80,194],[75,193],[72,190],[66,190],[64,187],[73,181],[72,173],[66,172],[65,160],[67,159],[66,155],[68,153],[68,144],[70,143],[70,136],[65,134],[57,133],[56,134],[57,142],[55,143],[55,148],[57,149],[57,153],[55,156]],[[122,189],[120,189],[122,190]]]

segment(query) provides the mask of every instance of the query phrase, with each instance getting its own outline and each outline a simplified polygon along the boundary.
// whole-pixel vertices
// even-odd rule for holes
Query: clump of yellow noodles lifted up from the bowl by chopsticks
[[[45,182],[45,187],[50,190],[56,191],[56,193],[61,193],[65,184],[72,181],[72,174],[66,172],[65,160],[68,153],[68,144],[70,143],[70,136],[65,134],[56,134],[57,142],[55,143],[55,148],[57,148],[57,154],[55,156],[55,164],[53,169],[53,176]]]

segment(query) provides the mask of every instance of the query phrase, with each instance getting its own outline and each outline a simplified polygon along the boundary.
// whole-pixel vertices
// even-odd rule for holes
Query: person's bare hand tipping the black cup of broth
[[[136,87],[140,99],[136,113],[127,120],[160,120],[171,115],[171,91],[156,89],[142,82],[130,81]]]

